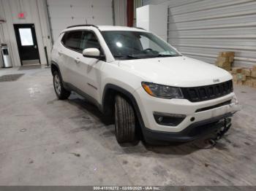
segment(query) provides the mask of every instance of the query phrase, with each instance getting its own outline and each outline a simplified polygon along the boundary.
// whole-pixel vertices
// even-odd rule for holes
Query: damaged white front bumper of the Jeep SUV
[[[217,119],[214,121],[216,123],[223,118],[231,117],[232,114],[241,109],[241,106],[238,105],[238,101],[234,93],[222,96],[221,98],[200,102],[191,102],[187,99],[178,98],[154,98],[149,96],[145,90],[142,89],[142,87],[135,91],[134,95],[138,102],[138,107],[143,120],[144,136],[154,136],[154,134],[159,134],[157,137],[162,137],[162,139],[165,139],[165,137],[166,139],[167,137],[177,137],[177,139],[191,140],[192,137],[197,137],[196,135],[191,135],[191,133],[188,133],[192,129],[194,129],[193,131],[197,131],[195,129],[203,129],[203,131],[207,132],[207,127],[202,126],[211,124],[211,119]],[[222,104],[225,101],[230,101],[230,104],[211,108],[211,106]],[[203,108],[206,108],[206,110],[197,112],[198,109]],[[154,119],[154,112],[184,114],[186,117],[180,124],[176,126],[159,125]],[[194,120],[191,120],[192,117]],[[162,133],[165,135],[162,135]],[[201,133],[197,134],[200,135]]]

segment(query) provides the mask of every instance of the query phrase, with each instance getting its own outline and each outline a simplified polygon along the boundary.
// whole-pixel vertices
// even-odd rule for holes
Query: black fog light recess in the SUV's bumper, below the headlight
[[[186,117],[184,114],[167,114],[162,112],[154,112],[154,120],[159,125],[166,126],[177,126],[180,124]]]

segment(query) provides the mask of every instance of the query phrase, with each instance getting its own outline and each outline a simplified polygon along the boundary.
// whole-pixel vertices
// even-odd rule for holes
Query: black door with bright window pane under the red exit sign
[[[14,29],[21,65],[40,63],[34,24],[15,24]]]

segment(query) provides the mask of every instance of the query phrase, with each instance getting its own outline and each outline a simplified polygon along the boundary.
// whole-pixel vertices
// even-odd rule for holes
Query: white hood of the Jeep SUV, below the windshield
[[[198,87],[232,79],[229,72],[217,66],[185,56],[120,61],[119,66],[146,82],[176,87]]]

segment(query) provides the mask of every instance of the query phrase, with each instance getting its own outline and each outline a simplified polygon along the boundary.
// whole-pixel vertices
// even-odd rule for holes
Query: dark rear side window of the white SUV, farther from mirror
[[[80,39],[82,36],[82,31],[69,31],[64,34],[61,39],[61,42],[65,47],[68,47],[72,50],[81,51],[80,50]]]

